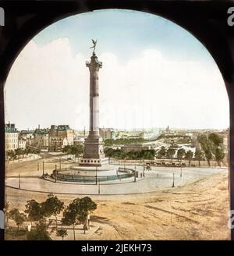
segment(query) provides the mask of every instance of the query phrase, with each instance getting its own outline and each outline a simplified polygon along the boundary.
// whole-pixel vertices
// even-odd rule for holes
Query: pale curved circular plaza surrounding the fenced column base
[[[116,165],[122,168],[122,165]],[[137,165],[136,172],[142,172],[143,166]],[[126,169],[134,169],[133,165],[126,165]],[[113,194],[140,194],[158,190],[169,190],[174,187],[183,187],[190,183],[204,180],[207,176],[216,173],[226,173],[226,168],[168,168],[152,167],[145,171],[144,176],[129,176],[125,179],[101,180],[94,179],[92,182],[71,180],[56,180],[50,176],[41,178],[37,175],[21,175],[6,177],[6,187],[17,190],[28,190],[37,193],[53,194],[85,194],[85,195],[113,195]]]

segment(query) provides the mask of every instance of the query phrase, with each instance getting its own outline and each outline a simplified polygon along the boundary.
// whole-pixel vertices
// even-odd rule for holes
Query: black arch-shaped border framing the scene
[[[0,1],[5,10],[5,27],[0,27],[0,209],[4,206],[5,188],[5,80],[12,63],[23,47],[44,27],[68,16],[96,9],[132,9],[162,16],[188,30],[204,44],[222,73],[229,94],[230,106],[230,173],[231,209],[234,209],[234,27],[227,23],[227,11],[233,3],[217,1],[157,1],[157,0],[73,0],[13,2]],[[3,231],[1,230],[1,239]],[[234,229],[231,231],[234,240]]]

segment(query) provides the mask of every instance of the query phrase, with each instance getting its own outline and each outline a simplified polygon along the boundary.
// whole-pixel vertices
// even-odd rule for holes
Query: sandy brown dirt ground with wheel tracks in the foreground
[[[6,189],[10,208],[47,195]],[[69,204],[76,195],[58,195]],[[92,196],[99,229],[90,240],[229,240],[228,174],[217,173],[184,187],[147,194]]]

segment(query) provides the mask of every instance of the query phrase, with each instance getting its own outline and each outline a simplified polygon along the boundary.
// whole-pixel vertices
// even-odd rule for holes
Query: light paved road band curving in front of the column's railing
[[[127,167],[127,166],[126,166]],[[129,166],[130,167],[130,166]],[[142,169],[141,166],[137,169]],[[218,172],[228,172],[228,169],[213,168],[183,168],[180,177],[180,168],[152,167],[151,171],[145,172],[144,180],[129,183],[101,183],[100,194],[137,194],[147,193],[156,190],[167,190],[172,188],[173,173],[175,174],[175,186],[184,186],[202,180],[207,176]],[[27,172],[28,174],[28,172]],[[30,173],[30,175],[32,175]],[[39,178],[21,177],[21,189],[33,190],[44,193],[58,194],[98,194],[98,185],[78,184],[78,183],[55,183]],[[6,185],[9,187],[19,187],[18,178],[7,178]]]

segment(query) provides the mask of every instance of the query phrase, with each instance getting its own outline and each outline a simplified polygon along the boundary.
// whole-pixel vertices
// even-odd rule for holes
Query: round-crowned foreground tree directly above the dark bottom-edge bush
[[[25,207],[26,210],[24,212],[27,213],[28,219],[30,219],[31,222],[37,222],[41,219],[44,219],[44,213],[42,212],[41,204],[39,204],[34,199],[27,201]]]

